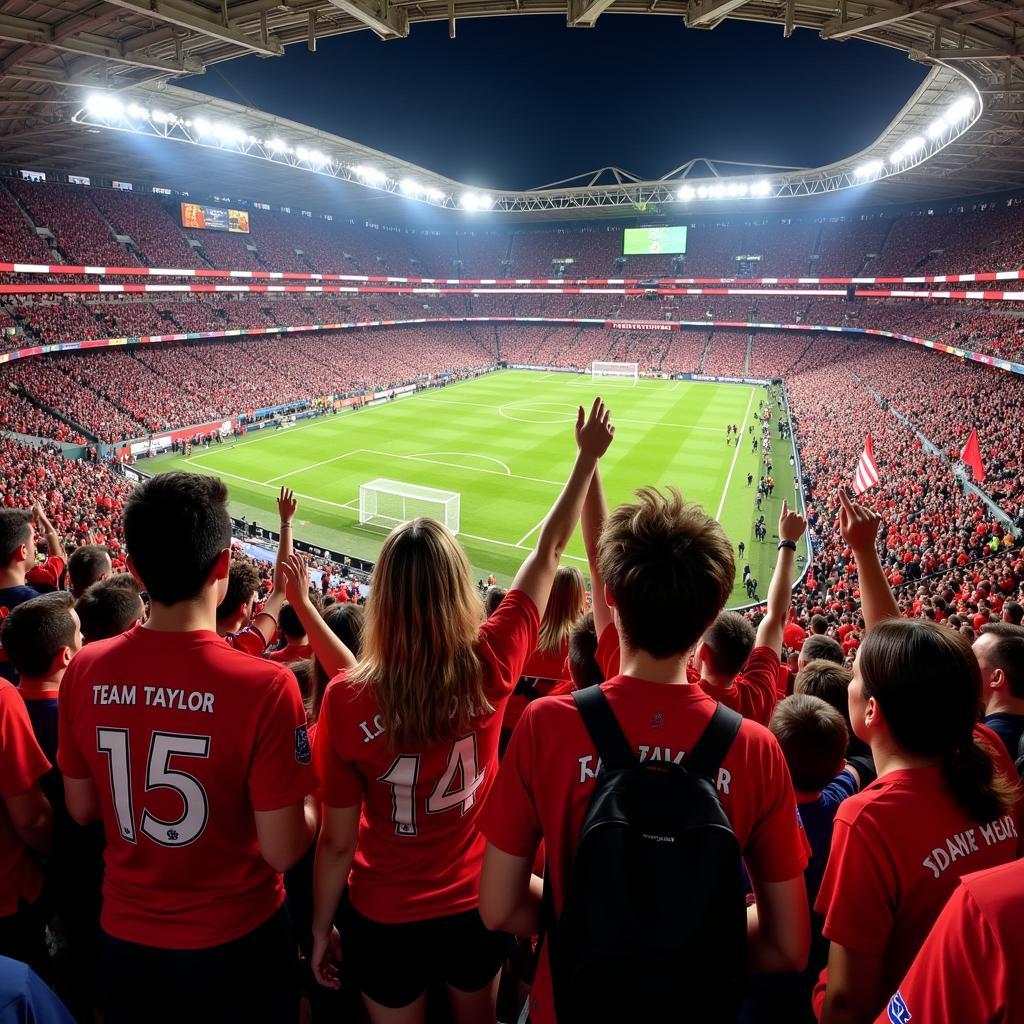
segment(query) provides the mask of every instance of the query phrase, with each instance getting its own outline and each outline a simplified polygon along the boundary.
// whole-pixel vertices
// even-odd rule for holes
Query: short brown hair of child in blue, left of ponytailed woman
[[[850,733],[843,716],[824,700],[794,693],[776,705],[768,728],[800,792],[820,793],[839,774]]]

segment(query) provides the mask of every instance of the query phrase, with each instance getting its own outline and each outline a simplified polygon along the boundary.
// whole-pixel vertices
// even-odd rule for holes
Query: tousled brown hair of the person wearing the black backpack
[[[736,579],[721,525],[676,487],[642,487],[598,542],[598,567],[623,638],[654,657],[688,651],[725,607]]]

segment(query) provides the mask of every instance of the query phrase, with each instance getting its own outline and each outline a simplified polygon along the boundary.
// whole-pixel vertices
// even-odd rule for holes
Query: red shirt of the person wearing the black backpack
[[[601,684],[641,760],[680,761],[715,712],[698,686],[616,676]],[[535,700],[512,734],[480,828],[500,850],[534,858],[543,838],[556,911],[562,907],[577,839],[599,770],[597,752],[571,696]],[[722,806],[758,882],[797,878],[807,845],[790,771],[775,737],[743,721],[718,778]],[[542,958],[530,1020],[552,1024],[551,977]]]

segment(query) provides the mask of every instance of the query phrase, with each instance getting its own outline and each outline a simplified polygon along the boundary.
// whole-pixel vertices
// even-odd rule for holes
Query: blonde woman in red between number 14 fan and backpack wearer
[[[574,566],[559,566],[541,620],[537,649],[526,658],[522,678],[505,706],[500,746],[503,757],[512,730],[530,700],[546,696],[559,682],[569,678],[569,633],[586,611],[587,586],[583,573]]]

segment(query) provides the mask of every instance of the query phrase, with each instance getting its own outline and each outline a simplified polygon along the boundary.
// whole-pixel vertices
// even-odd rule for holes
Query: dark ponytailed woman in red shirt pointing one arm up
[[[867,633],[850,720],[878,780],[845,801],[815,903],[830,942],[815,991],[828,1024],[873,1021],[961,874],[1013,859],[1018,787],[974,735],[981,673],[959,633],[899,618],[874,543],[879,516],[843,494]]]

